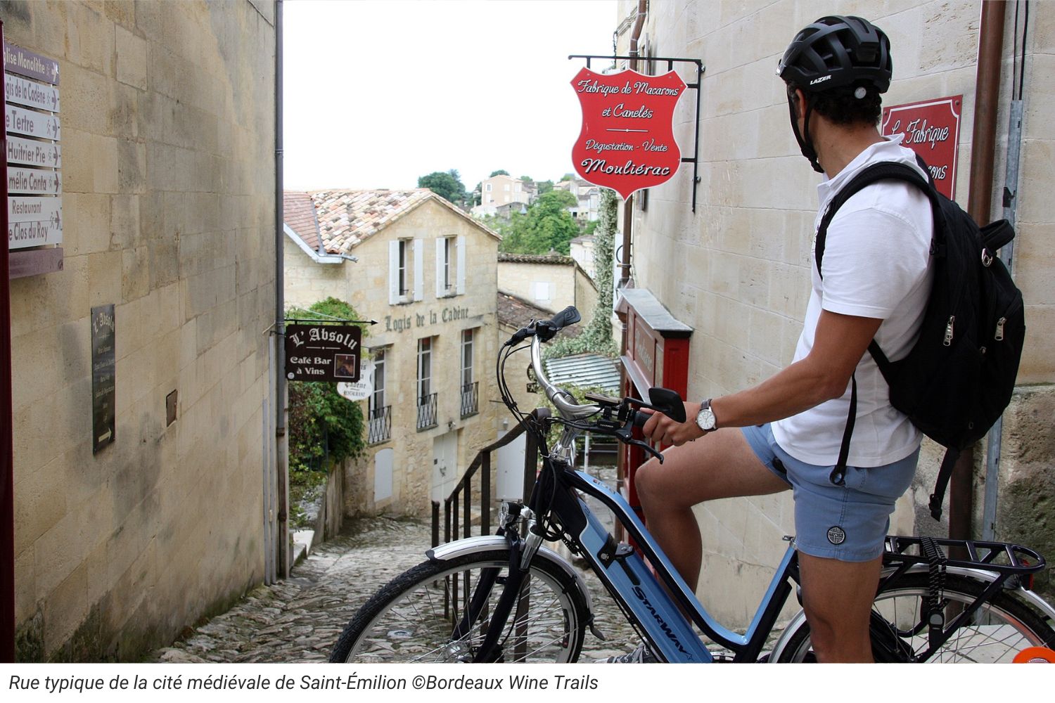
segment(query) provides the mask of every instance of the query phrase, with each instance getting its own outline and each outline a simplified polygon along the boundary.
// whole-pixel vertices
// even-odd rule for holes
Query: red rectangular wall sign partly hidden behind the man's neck
[[[902,145],[926,161],[938,192],[956,193],[956,157],[960,145],[962,95],[883,109],[883,136],[904,134]]]

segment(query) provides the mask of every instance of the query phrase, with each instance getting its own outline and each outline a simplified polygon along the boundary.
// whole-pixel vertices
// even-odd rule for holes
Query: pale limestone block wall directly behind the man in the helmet
[[[615,21],[635,7],[635,2],[620,2]],[[1049,246],[1053,210],[1048,195],[1053,188],[1055,126],[1046,117],[1055,106],[1055,5],[1033,3],[1031,9],[1015,250],[1015,275],[1025,295],[1029,332],[1019,373],[1023,388],[1010,413],[1016,428],[1035,431],[1015,429],[1004,435],[997,525],[998,534],[1006,539],[1023,534],[1020,539],[1024,543],[1036,538],[1015,532],[1028,521],[1011,520],[1011,513],[1035,516],[1033,534],[1037,525],[1047,525],[1049,532],[1055,525],[1047,500],[1030,505],[1028,497],[1050,495],[1050,485],[1039,477],[1025,480],[1052,463],[1051,423],[1044,425],[1042,419],[1051,391],[1043,385],[1055,380],[1055,357],[1050,353],[1055,341],[1051,319],[1055,267]],[[1013,72],[1013,5],[1008,12],[993,182],[997,216]],[[633,212],[636,285],[649,288],[674,316],[695,328],[690,395],[704,397],[745,388],[791,360],[809,292],[820,176],[799,153],[788,124],[784,86],[774,73],[794,32],[829,14],[861,15],[889,35],[895,79],[884,96],[885,104],[963,95],[956,195],[966,204],[980,14],[977,2],[650,3],[642,39],[647,38],[660,56],[698,58],[706,65],[696,212],[693,214],[690,207],[691,170],[687,168],[668,183],[651,189],[647,212],[637,208]],[[619,37],[618,54],[628,53],[628,40],[629,32]],[[675,64],[675,70],[686,82],[694,80],[694,72],[685,65]],[[693,143],[694,97],[690,91],[675,113],[674,133],[683,152]],[[984,447],[977,453],[981,472]],[[922,509],[939,460],[934,447],[924,447],[916,483],[899,503],[891,531],[945,532],[946,526],[935,523]],[[982,483],[978,482],[976,497],[979,520]],[[707,588],[716,611],[730,621],[746,623],[752,614],[753,605],[749,604],[757,602],[768,583],[767,574],[784,546],[781,536],[792,530],[790,505],[789,496],[780,496],[730,501],[697,510],[706,551],[701,588]],[[1022,513],[1025,508],[1031,512]],[[976,532],[980,531],[979,525]]]

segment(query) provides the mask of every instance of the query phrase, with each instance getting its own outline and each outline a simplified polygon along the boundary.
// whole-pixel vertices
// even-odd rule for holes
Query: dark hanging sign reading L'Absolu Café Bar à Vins
[[[287,325],[286,377],[359,380],[363,331],[354,325]]]

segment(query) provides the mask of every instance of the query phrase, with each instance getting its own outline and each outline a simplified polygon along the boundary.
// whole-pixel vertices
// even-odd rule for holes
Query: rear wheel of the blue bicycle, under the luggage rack
[[[909,573],[876,597],[870,627],[876,661],[914,661],[913,656],[926,649],[926,628],[918,625],[920,604],[928,592],[927,582],[926,573]],[[948,575],[943,598],[953,603],[970,604],[984,587],[985,584],[975,579]],[[952,617],[947,616],[946,622],[951,621]],[[901,631],[891,631],[891,623]],[[974,622],[954,632],[926,662],[1006,663],[1029,646],[1055,646],[1055,630],[1044,614],[1006,592],[998,592],[980,606]],[[893,657],[890,652],[895,652]],[[776,661],[816,661],[808,623],[803,621],[788,636]]]

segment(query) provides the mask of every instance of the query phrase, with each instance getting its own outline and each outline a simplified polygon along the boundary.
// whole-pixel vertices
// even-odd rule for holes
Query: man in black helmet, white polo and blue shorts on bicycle
[[[926,173],[878,131],[889,86],[889,40],[859,17],[823,17],[802,30],[779,64],[791,129],[813,169],[820,222],[853,175],[878,161]],[[816,224],[814,224],[816,227]],[[869,662],[868,618],[895,501],[908,488],[921,434],[895,410],[868,344],[888,358],[913,347],[931,290],[929,201],[902,181],[850,197],[827,233],[793,363],[747,390],[686,403],[688,419],[656,413],[645,425],[674,445],[645,464],[636,488],[651,533],[695,588],[702,559],[692,506],[792,489],[803,607],[823,662]],[[852,386],[853,441],[839,483]],[[697,441],[698,440],[698,441]]]

